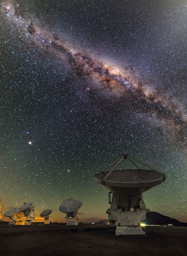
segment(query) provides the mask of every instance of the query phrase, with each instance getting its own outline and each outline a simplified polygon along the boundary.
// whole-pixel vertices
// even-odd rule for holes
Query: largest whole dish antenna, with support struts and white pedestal
[[[115,170],[123,160],[130,160],[135,169]],[[144,168],[139,168],[143,165]],[[145,168],[146,167],[146,168]],[[110,170],[108,170],[110,169]],[[123,155],[94,176],[95,182],[109,188],[108,220],[116,226],[116,235],[145,235],[140,223],[146,219],[142,193],[165,181],[165,175],[145,163]],[[112,197],[111,197],[112,196]]]

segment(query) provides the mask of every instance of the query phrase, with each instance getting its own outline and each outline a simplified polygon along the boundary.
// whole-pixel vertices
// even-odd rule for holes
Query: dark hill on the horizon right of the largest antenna
[[[173,224],[173,226],[185,226],[187,223],[179,222],[175,218],[166,217],[157,212],[146,213],[146,224],[158,224],[158,225],[168,225]]]

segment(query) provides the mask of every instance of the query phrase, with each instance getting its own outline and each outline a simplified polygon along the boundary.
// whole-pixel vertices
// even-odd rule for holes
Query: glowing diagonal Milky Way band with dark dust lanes
[[[27,39],[58,58],[65,58],[77,74],[84,75],[85,78],[89,77],[93,83],[98,83],[97,90],[107,91],[110,95],[122,99],[133,98],[135,105],[139,103],[139,108],[144,106],[146,110],[155,111],[158,118],[170,121],[173,129],[180,135],[180,139],[185,139],[187,120],[185,111],[173,105],[164,95],[155,92],[148,84],[135,78],[127,67],[125,70],[114,68],[91,54],[81,53],[68,46],[59,36],[41,28],[33,19],[27,18],[27,12],[19,9],[19,4],[2,3],[1,11],[9,21],[16,24]]]

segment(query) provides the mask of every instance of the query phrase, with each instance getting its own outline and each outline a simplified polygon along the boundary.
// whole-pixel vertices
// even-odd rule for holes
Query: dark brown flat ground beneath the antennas
[[[154,230],[155,228],[152,228]],[[118,237],[105,225],[0,225],[0,255],[186,256],[186,227],[156,227],[154,237]]]

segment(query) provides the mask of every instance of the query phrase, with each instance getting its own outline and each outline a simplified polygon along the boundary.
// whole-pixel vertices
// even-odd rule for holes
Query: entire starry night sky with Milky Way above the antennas
[[[93,176],[127,153],[166,175],[146,207],[187,222],[186,24],[186,0],[1,0],[3,213],[107,219]]]

